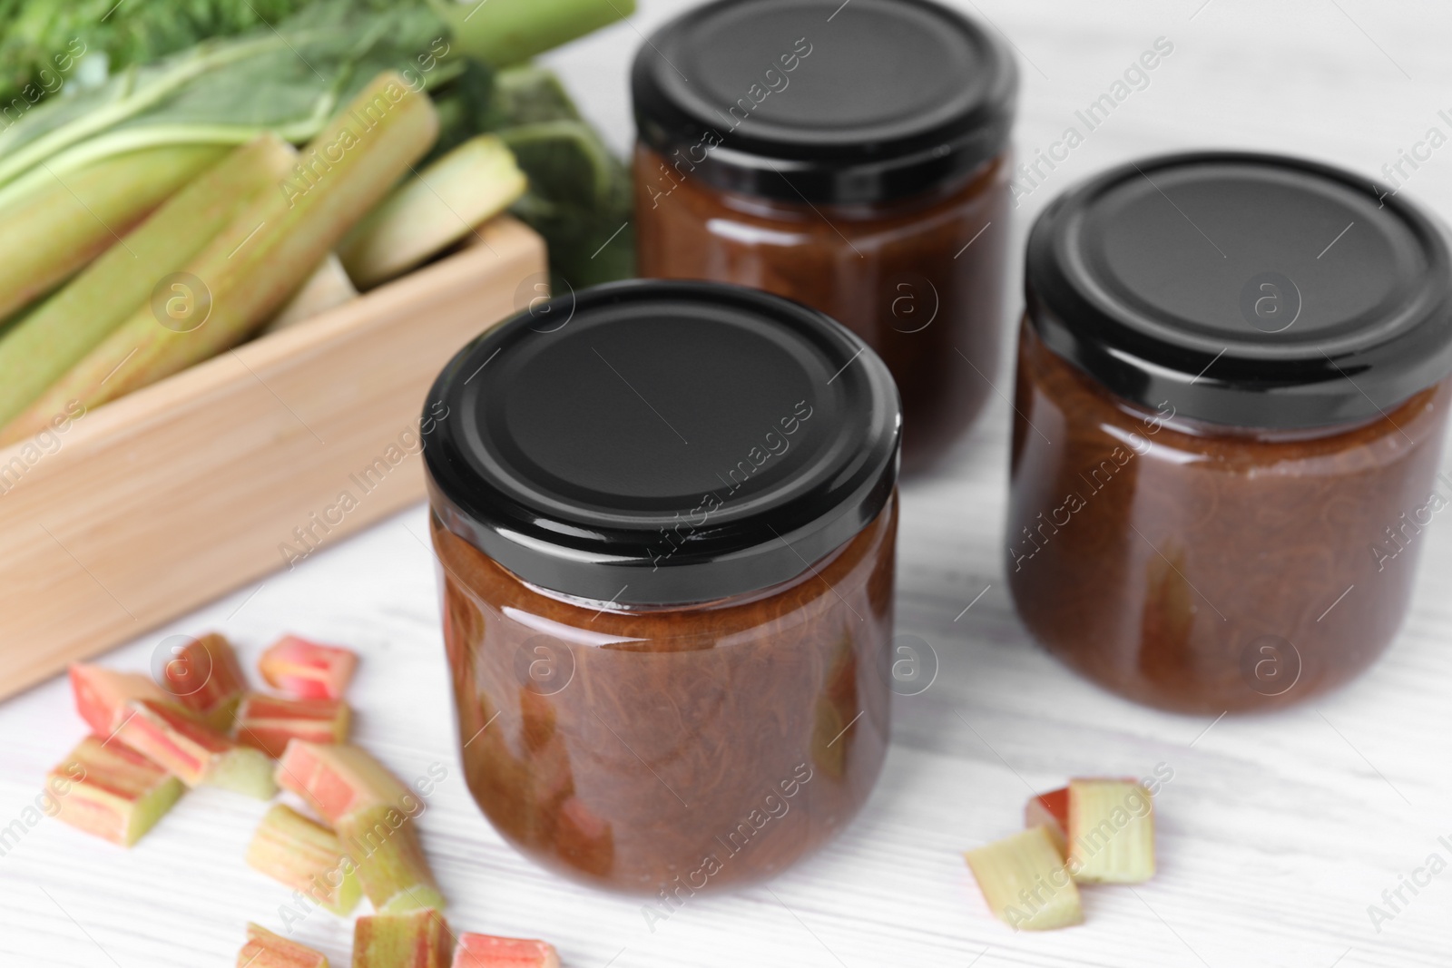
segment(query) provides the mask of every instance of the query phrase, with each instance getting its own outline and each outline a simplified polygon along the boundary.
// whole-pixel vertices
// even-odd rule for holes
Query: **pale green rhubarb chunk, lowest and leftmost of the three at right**
[[[1053,837],[1032,827],[963,855],[993,916],[1015,930],[1051,930],[1083,922],[1079,888]]]

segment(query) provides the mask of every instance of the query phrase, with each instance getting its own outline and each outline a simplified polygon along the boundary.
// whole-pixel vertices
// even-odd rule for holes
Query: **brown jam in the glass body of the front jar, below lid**
[[[436,518],[465,776],[494,827],[566,877],[668,895],[835,837],[887,752],[896,517],[781,585],[637,610],[534,588]]]

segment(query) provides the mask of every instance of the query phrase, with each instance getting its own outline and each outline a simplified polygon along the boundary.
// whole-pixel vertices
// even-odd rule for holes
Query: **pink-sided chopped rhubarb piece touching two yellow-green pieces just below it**
[[[414,803],[408,787],[386,766],[346,743],[292,740],[277,762],[277,784],[334,826],[364,807],[407,808]]]

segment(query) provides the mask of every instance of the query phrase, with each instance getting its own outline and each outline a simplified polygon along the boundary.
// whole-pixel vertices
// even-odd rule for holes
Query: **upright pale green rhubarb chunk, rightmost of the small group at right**
[[[1133,779],[1069,781],[1069,869],[1080,884],[1154,877],[1154,804]]]

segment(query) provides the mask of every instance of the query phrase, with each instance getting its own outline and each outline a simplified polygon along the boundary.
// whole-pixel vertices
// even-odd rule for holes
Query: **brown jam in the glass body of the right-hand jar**
[[[1124,406],[1031,327],[1018,366],[1009,581],[1066,663],[1218,714],[1333,689],[1391,641],[1417,534],[1452,504],[1446,380],[1355,430],[1268,440]]]

